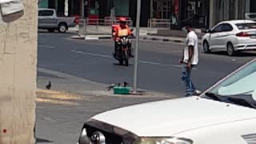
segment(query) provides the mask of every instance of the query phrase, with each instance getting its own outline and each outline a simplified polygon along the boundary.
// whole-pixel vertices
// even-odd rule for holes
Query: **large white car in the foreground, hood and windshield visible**
[[[206,90],[90,118],[78,144],[255,144],[256,59]]]

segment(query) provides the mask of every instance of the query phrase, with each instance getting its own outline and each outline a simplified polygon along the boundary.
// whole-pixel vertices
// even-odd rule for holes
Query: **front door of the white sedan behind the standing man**
[[[209,38],[210,49],[217,49],[220,46],[218,39],[221,32],[222,32],[222,24],[215,26],[214,29],[211,30],[210,38]]]

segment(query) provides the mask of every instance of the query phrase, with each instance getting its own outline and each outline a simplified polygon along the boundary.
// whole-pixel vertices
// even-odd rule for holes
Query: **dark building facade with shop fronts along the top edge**
[[[41,0],[39,7],[64,15],[66,4],[69,16],[81,15],[82,0]],[[84,0],[84,4],[86,18],[110,17],[112,10],[116,17],[130,17],[136,23],[137,0]],[[169,19],[171,29],[180,29],[184,20],[208,28],[222,20],[244,18],[248,12],[256,12],[255,0],[142,0],[141,26],[158,18]]]

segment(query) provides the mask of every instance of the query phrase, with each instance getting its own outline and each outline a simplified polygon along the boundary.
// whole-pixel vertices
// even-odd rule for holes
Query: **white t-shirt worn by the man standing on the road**
[[[194,46],[194,55],[192,56],[191,59],[191,64],[192,65],[197,65],[198,64],[198,36],[195,34],[194,31],[190,31],[186,35],[186,47],[184,49],[184,54],[183,54],[183,62],[187,63],[189,59],[189,46]]]

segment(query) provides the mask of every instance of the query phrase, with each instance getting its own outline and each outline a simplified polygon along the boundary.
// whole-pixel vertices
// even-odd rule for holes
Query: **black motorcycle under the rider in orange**
[[[130,45],[130,36],[123,36],[118,40],[118,50],[114,58],[118,60],[120,65],[129,66],[129,58],[131,57]]]

